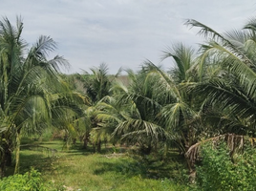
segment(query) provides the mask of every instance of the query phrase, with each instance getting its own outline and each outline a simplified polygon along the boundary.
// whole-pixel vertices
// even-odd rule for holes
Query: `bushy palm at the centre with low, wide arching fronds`
[[[139,144],[143,154],[150,154],[166,138],[164,129],[156,120],[161,109],[161,100],[154,91],[158,79],[153,75],[149,77],[143,66],[138,74],[131,70],[127,73],[129,87],[115,87],[118,105],[125,112],[122,113],[113,135],[128,144]]]

